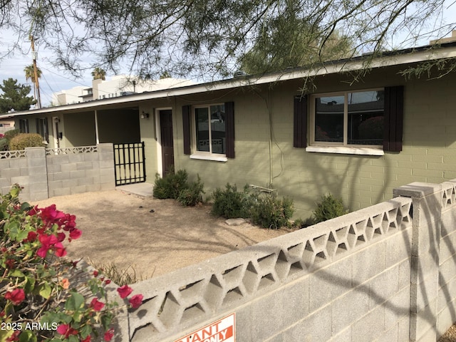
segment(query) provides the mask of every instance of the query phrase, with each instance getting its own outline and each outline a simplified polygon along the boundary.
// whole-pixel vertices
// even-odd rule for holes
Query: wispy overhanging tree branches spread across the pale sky
[[[441,16],[452,6],[445,0],[6,0],[0,30],[14,30],[18,41],[38,37],[56,65],[74,75],[90,58],[92,68],[129,66],[141,78],[167,70],[209,81],[232,75],[246,51],[258,50],[268,37],[276,42],[271,48],[284,46],[283,56],[274,51],[284,59],[281,66],[286,53],[304,48],[302,41],[309,41],[318,56],[311,66],[318,66],[333,39],[349,36],[344,55],[369,52],[368,68],[385,49],[447,36],[456,19],[444,23]]]

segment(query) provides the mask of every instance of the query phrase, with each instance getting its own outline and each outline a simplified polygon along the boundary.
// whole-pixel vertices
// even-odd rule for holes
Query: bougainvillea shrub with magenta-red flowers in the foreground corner
[[[15,185],[0,196],[0,341],[111,341],[118,304],[108,301],[110,279],[63,259],[62,242],[82,234],[76,217],[54,204],[21,203],[19,191]],[[132,291],[118,288],[137,308],[142,295],[128,299]]]

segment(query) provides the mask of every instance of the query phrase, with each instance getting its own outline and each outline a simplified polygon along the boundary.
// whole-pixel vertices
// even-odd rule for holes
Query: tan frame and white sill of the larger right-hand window
[[[330,152],[331,153],[347,153],[347,154],[361,154],[361,155],[377,155],[375,150],[383,151],[383,142],[378,145],[354,145],[348,144],[348,94],[349,93],[363,93],[367,91],[377,91],[383,90],[385,88],[368,88],[368,89],[360,89],[360,90],[341,90],[335,92],[328,92],[328,93],[316,93],[310,95],[310,146],[309,147],[333,147],[332,149],[328,148],[321,148],[320,150],[316,148],[306,148],[306,151],[309,152]],[[343,103],[343,142],[325,142],[325,141],[315,141],[315,115],[316,115],[316,108],[315,108],[315,100],[316,98],[322,98],[324,96],[343,96],[344,103]],[[383,100],[383,117],[385,117],[385,100]],[[384,123],[385,125],[385,123]],[[384,129],[384,128],[383,128]],[[342,147],[342,148],[339,148]],[[317,151],[318,150],[318,151]],[[338,152],[336,152],[338,151]],[[345,151],[345,152],[342,152]],[[379,154],[380,155],[380,154]],[[383,154],[382,154],[383,155]]]

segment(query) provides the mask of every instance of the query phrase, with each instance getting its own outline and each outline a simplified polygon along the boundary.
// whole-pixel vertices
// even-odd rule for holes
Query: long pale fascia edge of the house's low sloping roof
[[[373,59],[370,59],[372,58]],[[92,100],[83,103],[74,103],[71,105],[59,105],[56,107],[40,108],[25,110],[20,112],[0,115],[1,118],[12,118],[19,115],[33,115],[41,113],[59,113],[67,110],[84,110],[96,109],[100,106],[108,106],[122,103],[134,103],[144,100],[153,100],[157,98],[169,98],[181,95],[192,95],[205,93],[208,90],[227,90],[232,88],[242,88],[245,86],[261,85],[266,83],[275,83],[278,81],[290,81],[299,78],[312,76],[321,76],[331,73],[341,73],[348,71],[360,71],[366,68],[383,68],[388,66],[400,66],[403,64],[419,63],[422,61],[437,60],[443,58],[456,58],[456,41],[442,43],[439,46],[427,45],[416,48],[406,48],[398,51],[388,51],[379,53],[378,56],[365,54],[338,61],[329,61],[313,68],[300,67],[279,73],[270,73],[262,76],[247,76],[242,78],[229,78],[221,81],[212,81],[207,83],[198,83],[191,86],[177,88],[167,88],[154,90],[138,94],[123,95],[116,98],[105,98]],[[368,62],[368,64],[366,64]]]

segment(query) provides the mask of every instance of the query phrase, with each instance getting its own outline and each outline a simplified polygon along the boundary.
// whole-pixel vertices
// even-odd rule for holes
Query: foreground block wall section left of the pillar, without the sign
[[[148,279],[128,341],[236,315],[236,341],[408,341],[412,200],[400,197]]]

